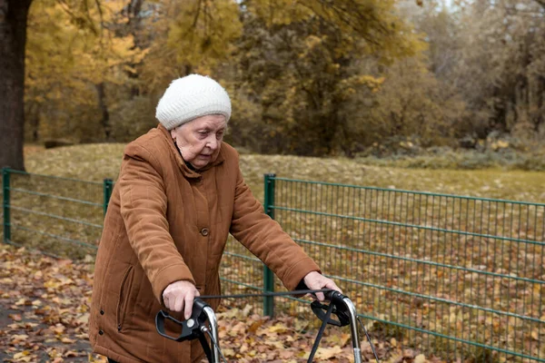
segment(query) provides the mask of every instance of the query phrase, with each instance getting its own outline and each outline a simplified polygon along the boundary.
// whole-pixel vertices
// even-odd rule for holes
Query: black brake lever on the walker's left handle
[[[164,338],[169,338],[175,341],[193,340],[194,338],[199,338],[199,336],[203,334],[201,328],[206,321],[206,315],[204,314],[203,309],[209,306],[210,305],[205,303],[202,299],[194,299],[191,318],[183,321],[173,318],[167,311],[159,310],[155,316],[155,328]],[[165,320],[171,320],[182,327],[182,332],[178,337],[173,337],[166,333],[164,329]]]

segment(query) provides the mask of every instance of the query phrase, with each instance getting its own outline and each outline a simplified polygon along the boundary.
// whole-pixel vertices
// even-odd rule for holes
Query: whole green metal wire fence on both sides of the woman
[[[111,181],[5,170],[3,185],[5,241],[92,253]],[[545,204],[266,175],[264,208],[338,281],[376,338],[452,360],[545,362]],[[224,293],[282,289],[233,240],[221,274]],[[296,299],[241,308],[309,310]]]

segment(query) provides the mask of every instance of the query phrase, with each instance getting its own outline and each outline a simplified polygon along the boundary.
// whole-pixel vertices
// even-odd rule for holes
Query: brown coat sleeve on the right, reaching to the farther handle
[[[282,231],[280,224],[265,214],[262,204],[253,197],[244,182],[240,168],[236,178],[231,234],[262,260],[282,280],[286,289],[296,289],[309,272],[320,272],[318,265]]]

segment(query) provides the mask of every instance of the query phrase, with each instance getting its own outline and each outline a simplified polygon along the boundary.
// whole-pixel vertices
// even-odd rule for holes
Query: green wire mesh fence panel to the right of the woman
[[[545,204],[275,184],[275,219],[380,338],[441,357],[545,361]]]

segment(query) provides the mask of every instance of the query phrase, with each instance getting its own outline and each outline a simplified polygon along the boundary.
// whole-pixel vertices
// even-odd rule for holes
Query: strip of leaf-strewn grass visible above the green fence
[[[104,178],[117,178],[124,145],[102,143],[32,150],[25,157],[28,172],[102,182]],[[545,202],[542,187],[545,172],[498,166],[482,170],[418,169],[404,167],[408,166],[406,163],[405,159],[379,164],[372,159],[241,155],[244,178],[260,200],[263,200],[263,174],[272,172],[292,179]]]

